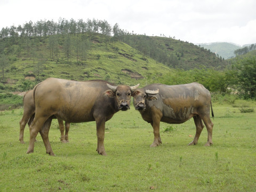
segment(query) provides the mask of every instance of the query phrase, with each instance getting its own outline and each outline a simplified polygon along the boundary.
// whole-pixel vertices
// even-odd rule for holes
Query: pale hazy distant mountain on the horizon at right
[[[211,52],[218,54],[224,59],[230,59],[235,57],[234,51],[241,49],[242,46],[236,45],[234,43],[202,43],[197,44],[198,46],[204,47],[205,49],[210,49]]]

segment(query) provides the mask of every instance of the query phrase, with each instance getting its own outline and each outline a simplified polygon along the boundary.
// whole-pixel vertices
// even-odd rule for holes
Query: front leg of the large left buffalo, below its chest
[[[104,148],[104,138],[105,138],[105,120],[103,119],[96,119],[96,126],[97,126],[97,138],[98,138],[98,145],[97,151],[100,155],[107,155],[105,148]]]

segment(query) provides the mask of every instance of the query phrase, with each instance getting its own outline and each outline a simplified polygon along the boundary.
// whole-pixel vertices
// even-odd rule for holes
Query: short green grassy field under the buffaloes
[[[69,143],[60,142],[53,120],[46,155],[40,135],[34,154],[19,143],[23,109],[0,112],[0,191],[256,191],[256,115],[232,105],[213,103],[213,146],[205,147],[204,128],[196,146],[193,119],[161,123],[163,144],[150,148],[153,129],[138,111],[119,111],[106,123],[105,149],[98,155],[95,122],[71,124]],[[171,131],[165,131],[171,130]],[[192,136],[192,137],[191,137]]]

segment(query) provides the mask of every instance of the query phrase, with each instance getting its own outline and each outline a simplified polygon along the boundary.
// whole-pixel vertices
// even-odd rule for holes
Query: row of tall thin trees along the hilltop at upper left
[[[70,19],[70,21],[60,18],[58,22],[53,20],[40,20],[35,23],[32,21],[26,22],[18,27],[3,27],[0,31],[0,38],[10,37],[46,37],[50,35],[60,34],[77,34],[77,33],[101,33],[103,35],[110,36],[113,29],[106,20],[90,20],[84,21],[79,19],[75,21]]]

